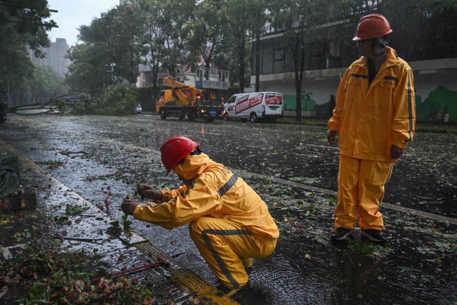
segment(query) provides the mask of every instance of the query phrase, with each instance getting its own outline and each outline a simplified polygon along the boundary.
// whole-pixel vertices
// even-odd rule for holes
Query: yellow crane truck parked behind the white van
[[[167,117],[177,117],[180,121],[203,118],[206,122],[212,122],[224,115],[224,106],[220,101],[211,100],[206,90],[188,86],[170,77],[165,77],[163,81],[172,89],[160,91],[156,99],[156,114],[162,120]]]

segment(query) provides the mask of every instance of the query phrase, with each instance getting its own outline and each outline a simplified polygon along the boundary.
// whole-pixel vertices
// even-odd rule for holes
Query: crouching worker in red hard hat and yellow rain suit
[[[173,170],[184,185],[162,191],[141,185],[141,192],[156,203],[126,198],[123,212],[166,229],[189,223],[193,242],[221,282],[218,288],[233,295],[247,284],[250,258],[268,256],[275,249],[278,227],[259,195],[202,153],[198,143],[177,136],[160,152],[166,175]]]

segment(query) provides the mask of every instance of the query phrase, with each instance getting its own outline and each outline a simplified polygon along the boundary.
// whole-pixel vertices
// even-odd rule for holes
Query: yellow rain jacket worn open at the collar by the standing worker
[[[342,155],[391,162],[390,146],[404,149],[413,139],[413,73],[395,50],[386,47],[386,51],[386,61],[371,84],[368,59],[363,56],[352,63],[340,82],[328,127],[339,129]]]

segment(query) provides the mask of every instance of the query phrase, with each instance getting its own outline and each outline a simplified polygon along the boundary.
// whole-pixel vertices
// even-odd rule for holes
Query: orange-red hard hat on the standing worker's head
[[[367,40],[382,37],[389,33],[392,33],[392,29],[390,29],[390,24],[386,17],[379,14],[370,14],[360,18],[357,26],[357,36],[352,40]]]

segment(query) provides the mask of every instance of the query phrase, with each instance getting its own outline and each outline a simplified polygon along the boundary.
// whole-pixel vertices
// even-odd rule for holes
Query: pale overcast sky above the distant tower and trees
[[[48,32],[49,39],[65,38],[69,46],[77,41],[78,27],[90,24],[94,17],[119,4],[119,0],[48,0],[49,8],[59,11],[51,13],[51,19],[57,22],[58,28]]]

